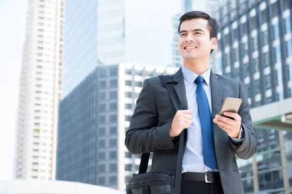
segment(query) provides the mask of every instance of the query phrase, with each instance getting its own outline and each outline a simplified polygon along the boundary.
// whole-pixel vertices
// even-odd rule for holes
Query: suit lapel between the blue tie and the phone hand
[[[222,81],[219,80],[219,77],[213,73],[212,70],[211,70],[210,83],[211,83],[212,118],[214,119],[215,115],[219,113],[220,108],[221,108],[223,83]],[[218,126],[216,123],[213,122],[212,127],[213,127],[213,134],[215,137],[215,133],[217,131],[215,129]]]

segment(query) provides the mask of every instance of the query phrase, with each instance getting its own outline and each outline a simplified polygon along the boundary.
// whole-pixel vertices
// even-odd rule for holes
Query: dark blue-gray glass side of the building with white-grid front
[[[60,102],[57,180],[118,188],[118,67],[97,67]]]

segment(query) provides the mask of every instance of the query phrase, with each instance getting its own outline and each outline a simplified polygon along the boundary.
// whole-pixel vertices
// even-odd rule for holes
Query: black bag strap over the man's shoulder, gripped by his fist
[[[162,81],[163,85],[167,88],[171,101],[175,107],[175,109],[183,110],[182,105],[179,103],[180,100],[175,92],[174,89],[174,82],[171,76],[159,76],[160,80]],[[174,193],[180,194],[181,193],[181,182],[182,182],[182,167],[183,167],[183,142],[184,142],[184,130],[180,135],[180,144],[179,144],[179,153],[178,153],[178,161],[177,161],[177,168],[176,168],[176,176],[175,176],[175,186],[174,186]],[[150,153],[144,153],[141,157],[140,167],[139,167],[139,174],[143,174],[147,172],[147,166],[149,162]]]

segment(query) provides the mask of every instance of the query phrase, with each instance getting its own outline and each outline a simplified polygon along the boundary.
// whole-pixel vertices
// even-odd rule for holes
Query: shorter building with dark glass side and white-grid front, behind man
[[[128,152],[125,133],[143,82],[177,70],[125,63],[96,67],[60,102],[56,179],[125,191],[140,166],[141,155]]]

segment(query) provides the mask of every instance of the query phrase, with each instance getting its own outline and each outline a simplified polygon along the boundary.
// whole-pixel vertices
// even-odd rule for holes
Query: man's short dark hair
[[[210,39],[213,37],[215,37],[217,39],[219,24],[217,23],[215,18],[213,18],[213,17],[209,16],[209,14],[207,14],[205,12],[201,12],[201,11],[191,11],[191,12],[183,14],[183,16],[181,16],[181,18],[180,18],[180,25],[178,28],[178,32],[180,33],[180,28],[181,28],[183,21],[194,19],[194,18],[206,19],[208,21],[208,29],[210,32]],[[211,50],[211,53],[212,52],[213,52],[213,50]]]

